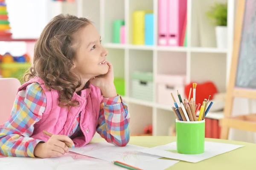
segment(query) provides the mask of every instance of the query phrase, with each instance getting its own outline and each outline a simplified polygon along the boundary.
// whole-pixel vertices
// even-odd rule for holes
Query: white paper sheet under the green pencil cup
[[[223,143],[215,143],[206,141],[204,144],[204,153],[196,154],[196,155],[186,155],[180,154],[176,151],[176,142],[172,142],[166,145],[160,145],[157,147],[146,148],[143,150],[139,150],[142,153],[148,153],[151,155],[162,156],[165,158],[172,158],[181,161],[187,162],[199,162],[204,159],[211,158],[213,156],[220,155],[222,153],[229,152],[231,150],[235,150],[239,147],[244,147],[242,145],[234,145],[234,144],[223,144]]]

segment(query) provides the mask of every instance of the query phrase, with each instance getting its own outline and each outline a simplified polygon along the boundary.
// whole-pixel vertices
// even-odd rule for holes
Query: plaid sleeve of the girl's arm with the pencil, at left
[[[0,126],[0,155],[35,157],[35,146],[41,140],[30,136],[45,107],[44,90],[38,83],[17,93],[9,120]]]

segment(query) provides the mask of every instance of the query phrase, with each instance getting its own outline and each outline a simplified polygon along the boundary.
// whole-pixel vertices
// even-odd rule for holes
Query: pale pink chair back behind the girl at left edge
[[[0,78],[0,125],[9,119],[20,85],[16,78]]]

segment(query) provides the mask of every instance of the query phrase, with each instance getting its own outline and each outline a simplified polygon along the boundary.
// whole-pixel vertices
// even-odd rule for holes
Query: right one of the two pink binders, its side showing
[[[187,10],[187,0],[168,0],[168,45],[179,46]]]

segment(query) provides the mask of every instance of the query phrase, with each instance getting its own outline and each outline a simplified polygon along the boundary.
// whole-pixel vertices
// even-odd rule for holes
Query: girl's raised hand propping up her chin
[[[114,71],[113,65],[106,61],[108,64],[108,72],[105,75],[90,79],[90,83],[93,86],[97,86],[101,89],[102,94],[105,98],[116,96],[116,87],[114,85]]]

